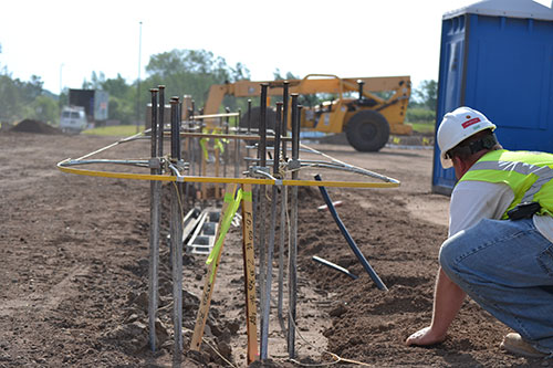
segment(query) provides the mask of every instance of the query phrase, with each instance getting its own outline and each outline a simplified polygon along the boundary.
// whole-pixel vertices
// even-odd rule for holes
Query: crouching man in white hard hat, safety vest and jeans
[[[494,129],[469,107],[446,114],[438,128],[441,165],[459,181],[432,320],[406,344],[444,341],[468,294],[517,332],[501,348],[553,357],[553,155],[502,149]]]

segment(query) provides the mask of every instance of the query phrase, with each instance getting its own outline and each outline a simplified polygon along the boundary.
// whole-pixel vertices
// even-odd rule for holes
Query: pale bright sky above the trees
[[[476,0],[2,1],[0,67],[44,88],[81,88],[92,72],[147,77],[150,55],[207,50],[252,81],[410,75],[438,80],[441,19]],[[551,0],[535,0],[551,6]]]

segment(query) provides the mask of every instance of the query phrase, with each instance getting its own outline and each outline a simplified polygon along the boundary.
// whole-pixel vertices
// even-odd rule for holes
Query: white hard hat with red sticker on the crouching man
[[[438,127],[438,146],[440,148],[441,166],[445,169],[453,166],[450,158],[446,157],[448,150],[484,129],[495,129],[495,125],[480,112],[461,106],[447,113]]]

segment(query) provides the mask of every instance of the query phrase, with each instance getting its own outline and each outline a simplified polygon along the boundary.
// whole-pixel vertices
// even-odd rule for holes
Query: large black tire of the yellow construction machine
[[[346,138],[358,151],[377,151],[388,141],[388,122],[376,111],[358,112],[347,122]]]

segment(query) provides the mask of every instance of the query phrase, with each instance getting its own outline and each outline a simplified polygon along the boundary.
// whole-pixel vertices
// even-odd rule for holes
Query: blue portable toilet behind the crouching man
[[[436,132],[469,106],[498,126],[505,149],[553,153],[553,9],[532,0],[486,0],[444,14]],[[450,194],[435,139],[432,191]]]

